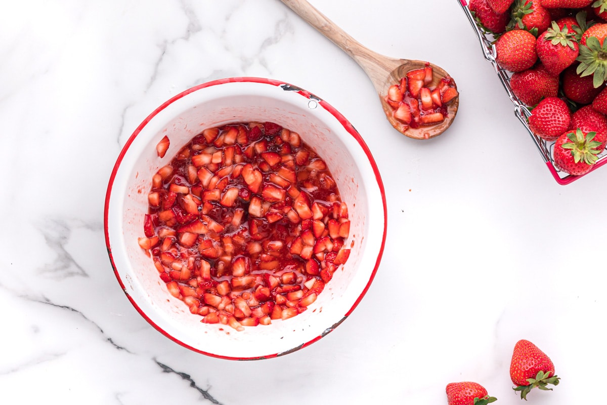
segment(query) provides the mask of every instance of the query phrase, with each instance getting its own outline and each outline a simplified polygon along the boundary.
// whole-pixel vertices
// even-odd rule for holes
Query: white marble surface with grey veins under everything
[[[278,0],[12,1],[0,14],[0,403],[441,404],[451,381],[518,403],[521,338],[594,396],[604,342],[607,169],[552,179],[457,0],[313,0],[371,49],[455,77],[458,117],[413,141],[362,70]],[[107,180],[164,100],[232,76],[288,81],[364,137],[388,201],[384,259],[347,321],[281,358],[209,358],[129,304],[107,258]],[[598,393],[597,393],[598,395]]]

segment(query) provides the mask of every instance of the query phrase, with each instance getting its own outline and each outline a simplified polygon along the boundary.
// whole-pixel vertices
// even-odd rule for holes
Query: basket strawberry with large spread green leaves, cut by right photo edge
[[[594,87],[600,87],[607,80],[607,24],[594,24],[580,39],[580,61],[576,73],[581,77],[592,77]]]

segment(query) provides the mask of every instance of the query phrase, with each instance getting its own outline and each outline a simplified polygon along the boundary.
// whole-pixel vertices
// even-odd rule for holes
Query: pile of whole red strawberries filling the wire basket
[[[555,141],[554,165],[590,171],[607,141],[607,0],[470,0],[469,9],[513,72],[529,128]]]

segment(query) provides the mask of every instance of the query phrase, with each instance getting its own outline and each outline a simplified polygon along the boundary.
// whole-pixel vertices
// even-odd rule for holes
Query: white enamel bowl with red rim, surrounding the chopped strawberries
[[[137,243],[152,175],[205,128],[273,121],[296,131],[324,158],[348,205],[351,254],[307,311],[237,332],[204,324],[168,293],[152,259]],[[168,136],[163,158],[155,149]],[[324,101],[274,81],[246,79],[194,87],[159,107],[132,135],[110,180],[106,240],[115,273],[135,308],[155,328],[197,352],[231,359],[266,358],[299,349],[330,332],[358,304],[379,265],[385,239],[381,179],[364,142]]]

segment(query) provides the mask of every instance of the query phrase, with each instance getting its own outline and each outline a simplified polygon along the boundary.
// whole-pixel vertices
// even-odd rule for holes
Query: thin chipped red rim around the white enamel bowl
[[[174,336],[172,336],[171,334],[166,332],[163,328],[161,328],[154,321],[152,321],[152,319],[150,319],[148,317],[148,315],[146,315],[146,313],[139,307],[139,305],[137,305],[137,302],[135,302],[135,300],[131,297],[131,295],[129,293],[127,293],[126,288],[124,287],[124,282],[120,278],[120,274],[118,274],[118,270],[116,268],[116,265],[114,264],[114,257],[112,256],[112,248],[110,247],[109,230],[108,230],[108,224],[107,224],[107,217],[108,217],[108,213],[109,213],[109,202],[110,202],[110,196],[112,194],[112,185],[114,185],[114,179],[118,172],[118,168],[120,167],[120,164],[122,163],[124,155],[126,154],[127,150],[131,146],[131,143],[133,143],[133,141],[135,140],[135,137],[137,137],[137,135],[144,128],[144,126],[146,126],[146,124],[148,124],[149,121],[151,121],[152,118],[155,117],[155,115],[157,115],[160,111],[163,111],[163,109],[165,109],[167,106],[169,106],[169,104],[174,103],[175,100],[185,97],[186,95],[188,95],[192,92],[195,92],[197,90],[204,89],[205,87],[217,86],[219,84],[225,84],[225,83],[237,83],[237,82],[271,84],[272,86],[288,86],[288,89],[295,90],[298,94],[304,96],[305,98],[308,98],[308,99],[314,98],[314,100],[316,100],[322,107],[324,107],[325,110],[330,112],[331,115],[333,115],[337,119],[337,121],[339,121],[339,123],[342,124],[342,126],[346,129],[346,131],[348,131],[348,133],[350,135],[352,135],[352,137],[354,139],[356,139],[356,141],[358,141],[362,150],[367,155],[369,163],[370,163],[371,167],[373,168],[373,173],[375,174],[375,179],[378,182],[379,191],[381,192],[381,197],[382,197],[382,205],[384,208],[384,232],[382,234],[381,246],[379,247],[379,253],[378,253],[377,260],[375,262],[375,267],[373,268],[373,271],[371,272],[371,276],[369,277],[369,281],[367,282],[367,285],[365,285],[365,288],[362,290],[361,294],[358,296],[358,299],[356,299],[356,301],[354,302],[354,304],[352,305],[350,310],[348,310],[347,313],[344,314],[344,317],[339,322],[337,322],[336,324],[334,324],[333,326],[328,328],[327,331],[325,331],[321,335],[316,336],[315,338],[311,339],[310,341],[305,342],[304,344],[301,344],[297,347],[294,347],[291,350],[287,350],[286,352],[273,353],[271,355],[257,356],[257,357],[222,356],[222,355],[216,355],[214,353],[205,352],[203,350],[195,349],[195,347],[192,347],[191,345],[188,345],[185,342],[182,342],[179,339],[174,338]],[[141,315],[146,321],[148,321],[148,323],[150,325],[152,325],[158,332],[162,333],[164,336],[171,339],[175,343],[177,343],[183,347],[186,347],[187,349],[192,350],[193,352],[201,353],[203,355],[207,355],[207,356],[211,356],[211,357],[215,357],[215,358],[229,359],[229,360],[254,360],[254,359],[273,358],[273,357],[277,357],[280,355],[285,355],[287,353],[294,352],[294,351],[302,349],[303,347],[306,347],[310,344],[313,344],[314,342],[316,342],[323,336],[332,332],[334,330],[334,328],[336,328],[338,325],[340,325],[352,313],[352,311],[354,311],[354,308],[356,308],[358,306],[359,302],[361,302],[362,298],[367,293],[367,290],[370,287],[371,282],[373,282],[373,279],[375,278],[375,274],[377,273],[377,270],[379,268],[379,263],[381,262],[382,254],[384,253],[385,238],[386,238],[387,227],[388,227],[387,225],[388,225],[388,216],[387,216],[387,205],[386,205],[386,199],[385,199],[384,183],[382,183],[381,175],[379,174],[379,169],[375,163],[375,160],[373,159],[373,156],[371,155],[371,151],[367,147],[367,144],[362,139],[362,137],[358,133],[358,131],[356,131],[356,129],[354,129],[352,124],[350,124],[350,122],[340,112],[338,112],[336,109],[334,109],[330,104],[328,104],[324,100],[320,100],[319,98],[317,98],[315,95],[311,94],[310,92],[307,92],[306,90],[300,89],[299,87],[293,86],[284,81],[259,78],[259,77],[225,78],[225,79],[209,81],[209,82],[203,83],[203,84],[198,84],[198,86],[191,87],[191,89],[185,90],[185,91],[181,92],[180,94],[175,95],[174,97],[170,98],[168,101],[165,101],[163,104],[161,104],[157,109],[155,109],[150,115],[148,115],[148,117],[146,117],[143,120],[143,122],[141,124],[139,124],[137,129],[135,129],[135,131],[133,132],[131,137],[129,137],[129,139],[124,144],[122,150],[120,151],[120,154],[118,155],[114,168],[112,169],[112,174],[110,175],[109,183],[107,185],[106,200],[105,200],[105,206],[104,206],[104,210],[103,210],[103,228],[104,228],[104,233],[105,233],[105,238],[106,238],[107,254],[109,256],[110,263],[112,264],[112,269],[114,270],[114,275],[116,276],[118,283],[120,283],[120,287],[124,291],[124,294],[131,302],[131,305],[133,305],[133,307],[137,310],[139,315]]]

